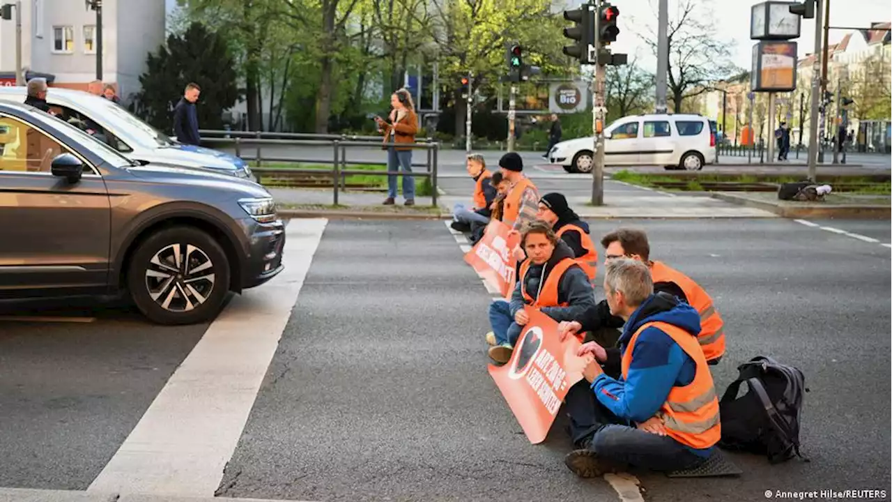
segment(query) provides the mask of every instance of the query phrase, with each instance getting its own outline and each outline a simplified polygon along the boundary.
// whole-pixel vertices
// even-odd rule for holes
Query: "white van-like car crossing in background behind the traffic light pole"
[[[605,165],[699,171],[715,163],[714,123],[701,115],[681,113],[623,117],[604,130]],[[591,172],[593,151],[594,138],[575,138],[552,147],[548,157],[566,172]]]

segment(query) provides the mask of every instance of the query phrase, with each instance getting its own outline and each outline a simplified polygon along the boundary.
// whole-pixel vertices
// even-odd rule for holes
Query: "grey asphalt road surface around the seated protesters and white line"
[[[811,389],[801,434],[811,463],[731,454],[745,472],[737,479],[635,473],[648,500],[892,494],[888,223],[590,223],[594,238],[645,228],[656,259],[712,294],[728,337],[714,368],[720,392],[757,355],[796,365]],[[442,222],[328,222],[219,495],[617,500],[606,481],[566,471],[560,421],[544,444],[525,439],[486,372],[489,301]],[[86,488],[205,329],[78,315],[96,319],[0,321],[0,486]]]

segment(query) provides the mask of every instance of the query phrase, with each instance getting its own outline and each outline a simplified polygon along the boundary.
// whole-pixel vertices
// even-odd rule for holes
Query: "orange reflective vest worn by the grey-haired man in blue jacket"
[[[623,379],[629,376],[635,342],[641,331],[649,327],[657,328],[669,335],[685,354],[694,360],[697,370],[694,380],[688,385],[677,385],[669,391],[663,406],[657,412],[663,420],[666,435],[690,448],[709,448],[722,438],[722,423],[719,420],[719,399],[715,396],[713,375],[706,365],[706,358],[695,339],[688,331],[666,322],[645,322],[629,340],[623,354]]]

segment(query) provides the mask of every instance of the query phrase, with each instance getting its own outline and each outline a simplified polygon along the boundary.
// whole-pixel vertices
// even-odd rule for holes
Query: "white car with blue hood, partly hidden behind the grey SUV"
[[[0,101],[23,103],[27,94],[23,87],[0,87]],[[50,88],[46,93],[46,102],[56,116],[80,129],[91,130],[95,138],[128,159],[142,164],[176,165],[253,180],[248,163],[237,156],[203,146],[178,143],[102,96],[73,89]]]

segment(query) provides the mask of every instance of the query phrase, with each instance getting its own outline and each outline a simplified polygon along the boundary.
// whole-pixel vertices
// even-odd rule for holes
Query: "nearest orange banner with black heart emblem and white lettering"
[[[527,439],[545,440],[567,391],[582,380],[587,360],[576,356],[575,337],[558,341],[558,323],[526,307],[530,322],[524,326],[508,364],[489,366],[492,380],[514,412]]]

